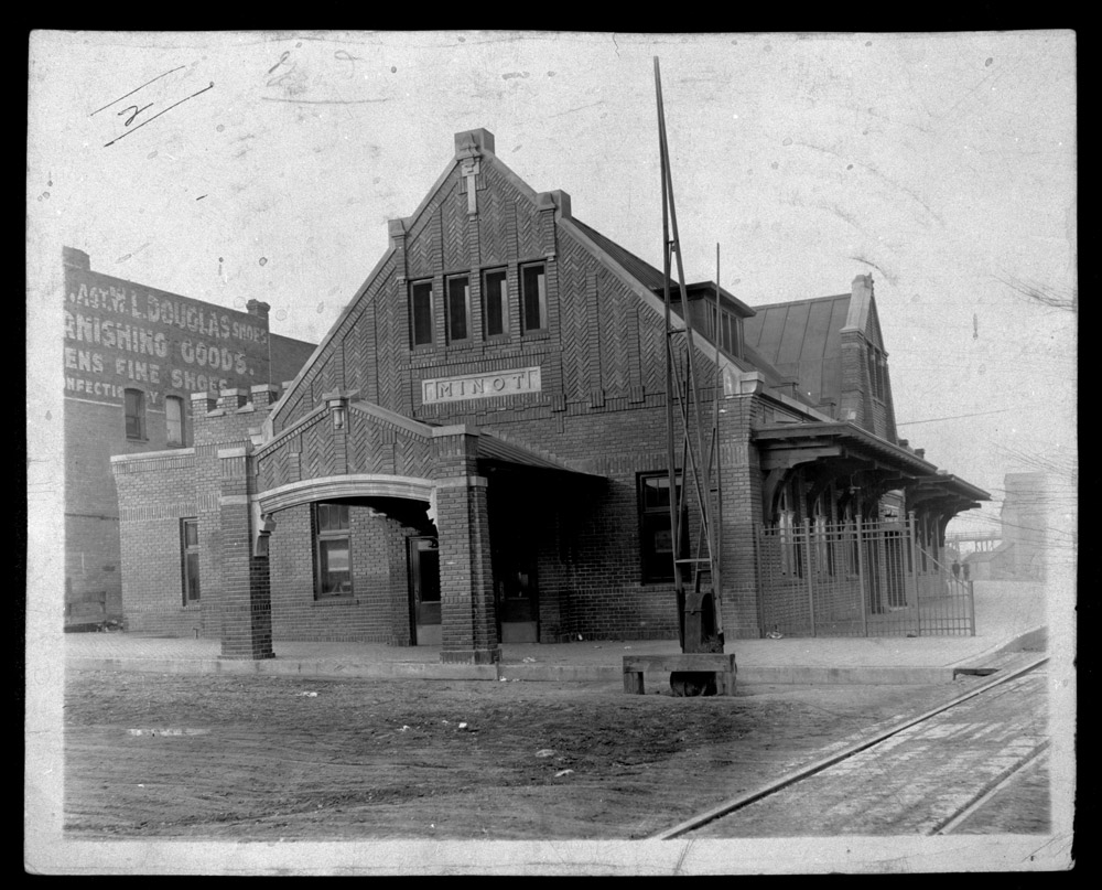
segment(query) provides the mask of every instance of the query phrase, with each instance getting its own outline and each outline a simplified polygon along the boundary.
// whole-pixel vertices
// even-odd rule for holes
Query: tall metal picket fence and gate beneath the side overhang
[[[763,635],[974,635],[972,582],[918,546],[915,518],[758,530]]]

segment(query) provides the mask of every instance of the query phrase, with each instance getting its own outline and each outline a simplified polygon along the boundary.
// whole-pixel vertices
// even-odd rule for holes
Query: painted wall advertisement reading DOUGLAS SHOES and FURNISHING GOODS
[[[151,404],[268,382],[264,319],[86,269],[65,269],[65,395]]]

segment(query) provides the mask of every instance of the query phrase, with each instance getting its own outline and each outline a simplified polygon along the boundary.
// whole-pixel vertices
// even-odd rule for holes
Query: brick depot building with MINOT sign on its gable
[[[501,642],[677,637],[662,283],[489,132],[456,135],[293,383],[195,394],[193,447],[112,458],[130,626],[196,629],[240,658],[273,639],[488,663]],[[785,610],[813,571],[830,596],[865,583],[851,611],[914,605],[946,524],[986,494],[896,438],[871,278],[757,311],[714,293],[673,308],[722,386],[726,636],[799,632]],[[898,589],[868,588],[897,543],[876,566],[833,540],[821,562],[793,537],[769,549],[778,528],[893,516],[923,554]]]

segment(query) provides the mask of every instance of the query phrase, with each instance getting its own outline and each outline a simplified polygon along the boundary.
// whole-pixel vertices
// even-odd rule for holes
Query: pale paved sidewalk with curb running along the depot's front
[[[739,684],[928,684],[952,682],[962,668],[994,666],[1015,650],[1044,646],[1045,592],[1039,585],[976,581],[975,636],[788,637],[733,640]],[[625,655],[676,655],[676,640],[504,644],[497,665],[442,664],[434,647],[378,643],[280,641],[276,657],[223,661],[217,640],[67,634],[74,671],[296,676],[363,679],[484,679],[618,683]],[[668,674],[648,675],[650,688]]]

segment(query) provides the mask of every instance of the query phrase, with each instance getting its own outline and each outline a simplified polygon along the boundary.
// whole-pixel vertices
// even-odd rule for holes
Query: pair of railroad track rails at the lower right
[[[946,715],[947,711],[951,711],[954,708],[961,708],[961,706],[965,703],[972,701],[981,696],[985,696],[993,690],[1004,691],[1001,690],[1000,687],[1005,687],[1007,684],[1013,684],[1016,680],[1019,680],[1019,678],[1023,678],[1036,671],[1046,662],[1048,662],[1047,655],[1038,655],[1035,658],[1029,658],[1024,664],[1019,663],[1017,666],[1006,669],[1006,673],[1000,671],[1000,676],[984,683],[981,686],[977,686],[974,689],[971,689],[968,693],[964,693],[963,695],[958,696],[957,698],[953,698],[943,705],[938,706],[937,708],[932,708],[915,717],[906,718],[893,726],[875,730],[867,737],[846,746],[842,750],[834,751],[820,760],[813,761],[812,763],[808,763],[804,766],[786,773],[785,775],[773,780],[754,791],[741,794],[737,797],[733,797],[717,806],[713,806],[702,813],[699,813],[695,816],[674,825],[672,828],[668,828],[657,835],[653,835],[651,839],[670,840],[683,837],[709,836],[709,832],[702,832],[705,826],[712,826],[712,829],[714,830],[716,827],[714,823],[724,819],[731,814],[737,813],[738,811],[745,809],[752,805],[757,806],[770,802],[776,803],[780,800],[780,795],[792,791],[804,791],[804,789],[798,787],[801,783],[809,783],[809,780],[815,779],[817,776],[822,778],[829,775],[828,771],[831,770],[844,770],[847,765],[846,762],[853,761],[858,758],[858,755],[864,758],[868,754],[875,754],[878,750],[886,752],[893,746],[897,746],[903,740],[904,736],[912,734],[915,731],[921,731],[926,727],[933,727],[937,719],[942,715]],[[1034,764],[1038,758],[1042,757],[1048,747],[1049,741],[1045,738],[1026,742],[1026,746],[1022,750],[1015,749],[1013,757],[1009,758],[1003,769],[998,770],[994,775],[987,778],[986,781],[984,781],[977,790],[974,790],[969,797],[961,801],[959,804],[954,803],[952,813],[942,814],[939,818],[928,822],[928,824],[923,824],[922,832],[930,835],[951,833],[972,813],[982,807],[988,800],[991,800],[991,797],[1014,781],[1014,779],[1024,770]],[[711,836],[715,835],[712,834]]]

